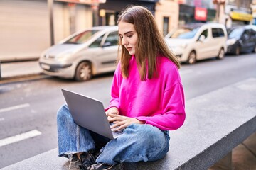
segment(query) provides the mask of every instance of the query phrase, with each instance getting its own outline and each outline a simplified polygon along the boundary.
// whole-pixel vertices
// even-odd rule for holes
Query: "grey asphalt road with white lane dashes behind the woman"
[[[183,64],[180,73],[188,101],[256,77],[256,55],[226,56],[224,60]],[[112,75],[105,74],[86,82],[46,78],[1,85],[0,169],[58,147],[56,112],[65,103],[60,89],[86,94],[107,106]]]

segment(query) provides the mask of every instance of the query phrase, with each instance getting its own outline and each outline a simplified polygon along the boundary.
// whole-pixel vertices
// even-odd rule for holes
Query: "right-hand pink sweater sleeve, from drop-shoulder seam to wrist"
[[[139,116],[138,120],[154,125],[161,130],[176,130],[183,125],[185,114],[185,100],[183,86],[175,84],[164,92],[163,113],[153,116]]]

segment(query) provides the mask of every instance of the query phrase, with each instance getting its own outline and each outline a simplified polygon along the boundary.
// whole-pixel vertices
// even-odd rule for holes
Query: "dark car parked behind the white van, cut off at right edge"
[[[227,53],[256,52],[256,26],[248,25],[230,29]]]

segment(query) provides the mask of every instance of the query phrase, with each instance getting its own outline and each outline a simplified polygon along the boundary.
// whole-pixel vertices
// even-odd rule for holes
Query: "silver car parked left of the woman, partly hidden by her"
[[[117,26],[98,26],[70,35],[45,50],[39,64],[45,74],[86,81],[117,67]]]

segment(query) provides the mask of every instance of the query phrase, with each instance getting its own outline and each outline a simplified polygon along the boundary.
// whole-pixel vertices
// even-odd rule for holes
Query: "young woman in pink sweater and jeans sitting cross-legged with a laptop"
[[[123,134],[107,140],[75,125],[67,106],[58,111],[59,156],[77,155],[81,169],[161,159],[169,150],[169,130],[180,128],[185,120],[180,64],[166,46],[154,16],[142,6],[132,6],[120,14],[117,23],[122,52],[105,111],[114,123],[112,128]]]

